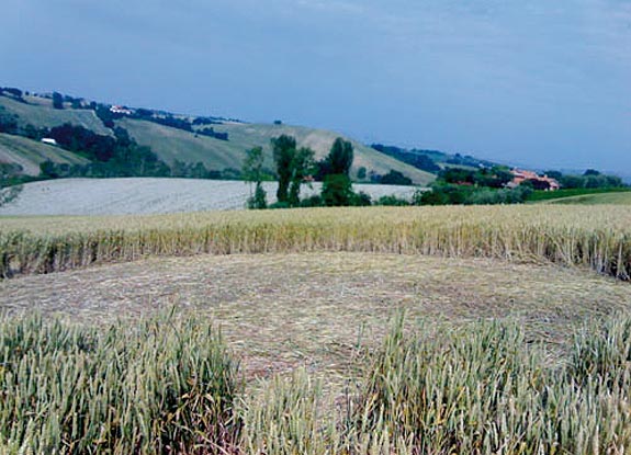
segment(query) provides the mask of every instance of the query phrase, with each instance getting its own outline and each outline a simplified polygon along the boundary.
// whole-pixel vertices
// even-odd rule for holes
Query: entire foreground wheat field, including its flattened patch
[[[630,221],[2,217],[0,452],[623,454]]]

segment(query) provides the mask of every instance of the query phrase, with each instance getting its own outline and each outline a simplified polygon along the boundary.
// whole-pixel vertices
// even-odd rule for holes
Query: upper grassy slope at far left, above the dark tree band
[[[110,135],[112,132],[103,126],[103,123],[97,117],[93,111],[89,110],[56,110],[48,104],[45,99],[30,98],[26,100],[32,104],[20,103],[7,96],[0,96],[0,106],[7,111],[18,114],[20,121],[24,124],[30,123],[36,127],[54,127],[64,123],[81,125],[94,133]]]

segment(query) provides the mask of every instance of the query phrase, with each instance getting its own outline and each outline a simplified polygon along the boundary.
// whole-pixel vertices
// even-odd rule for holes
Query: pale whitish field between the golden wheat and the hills
[[[268,202],[275,182],[264,182]],[[409,198],[415,186],[354,184],[374,200],[383,195]],[[303,185],[301,195],[318,194],[320,183]],[[243,181],[194,179],[63,179],[27,183],[0,215],[117,215],[241,209],[250,195]]]

